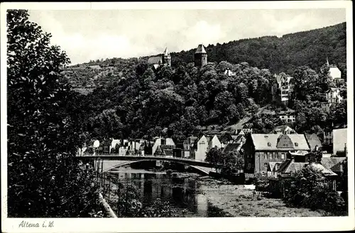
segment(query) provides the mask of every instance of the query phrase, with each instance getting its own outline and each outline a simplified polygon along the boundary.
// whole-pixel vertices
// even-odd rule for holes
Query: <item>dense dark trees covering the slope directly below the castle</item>
[[[226,76],[221,67],[236,75]],[[255,113],[259,105],[271,101],[272,82],[268,70],[246,62],[156,70],[140,62],[132,76],[82,96],[84,101],[77,104],[87,113],[83,130],[92,137],[161,134],[183,140],[199,125],[231,125]]]

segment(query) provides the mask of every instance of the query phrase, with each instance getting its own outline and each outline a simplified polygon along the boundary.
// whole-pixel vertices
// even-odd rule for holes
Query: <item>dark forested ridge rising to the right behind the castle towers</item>
[[[173,66],[179,62],[192,62],[195,48],[171,53]],[[262,38],[234,40],[207,46],[209,62],[248,62],[272,73],[293,74],[296,67],[306,65],[319,69],[326,57],[339,69],[346,65],[346,23],[326,28]]]

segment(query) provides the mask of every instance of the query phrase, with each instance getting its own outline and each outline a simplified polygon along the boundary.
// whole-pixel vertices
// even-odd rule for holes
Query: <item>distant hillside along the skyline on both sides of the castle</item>
[[[188,51],[172,52],[172,66],[193,62],[195,48]],[[248,62],[251,67],[269,69],[270,72],[293,74],[297,67],[306,65],[318,71],[326,57],[337,64],[346,74],[346,23],[326,28],[262,38],[235,40],[224,44],[207,46],[209,62]],[[141,57],[148,59],[148,57]],[[122,77],[133,74],[136,64],[133,59],[101,59],[68,67],[64,74],[76,89],[92,90],[107,86]]]

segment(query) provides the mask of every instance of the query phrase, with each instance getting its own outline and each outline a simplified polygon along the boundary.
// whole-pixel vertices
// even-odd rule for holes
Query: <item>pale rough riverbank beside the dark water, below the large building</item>
[[[242,185],[209,177],[197,178],[199,191],[216,208],[231,217],[320,217],[322,211],[290,208],[280,199],[253,196],[253,191]]]

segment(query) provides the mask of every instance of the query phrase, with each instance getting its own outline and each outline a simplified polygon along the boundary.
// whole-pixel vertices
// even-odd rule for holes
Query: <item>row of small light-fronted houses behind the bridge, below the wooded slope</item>
[[[223,149],[224,152],[239,151],[251,129],[236,130],[234,134],[202,135],[187,137],[181,142],[174,142],[172,138],[155,137],[153,140],[115,140],[108,139],[88,142],[80,148],[78,154],[119,154],[119,155],[163,155],[168,157],[184,157],[204,161],[206,154],[212,148]],[[96,146],[94,145],[96,143]]]

